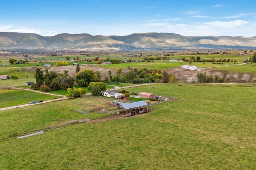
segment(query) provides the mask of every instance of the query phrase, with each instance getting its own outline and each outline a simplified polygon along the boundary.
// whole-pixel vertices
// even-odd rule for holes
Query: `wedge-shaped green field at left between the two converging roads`
[[[50,100],[56,96],[40,94],[28,90],[0,90],[0,108],[28,104],[31,101]]]

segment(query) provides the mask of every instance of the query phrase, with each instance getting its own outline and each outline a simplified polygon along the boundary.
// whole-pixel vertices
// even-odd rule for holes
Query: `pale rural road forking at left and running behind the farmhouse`
[[[155,84],[155,83],[137,84],[137,85],[134,85],[134,86],[125,86],[125,87],[118,87],[118,86],[114,86],[114,85],[110,85],[110,86],[114,86],[114,88],[112,88],[111,90],[119,90],[121,88],[130,88],[130,87],[145,86],[145,85],[151,85],[151,84]],[[4,86],[4,85],[0,85],[0,86]],[[29,90],[29,91],[32,91],[32,92],[37,92],[37,93],[42,93],[42,94],[62,97],[62,98],[58,98],[58,99],[46,100],[46,101],[44,101],[42,103],[36,103],[36,104],[44,104],[44,103],[47,103],[47,102],[55,102],[55,101],[69,99],[66,96],[62,96],[62,95],[58,95],[58,94],[52,94],[52,93],[46,93],[46,92],[39,92],[37,90],[31,90],[31,89],[26,89],[26,88],[16,88],[16,87],[12,87],[12,86],[4,86],[4,87],[8,87],[8,88],[12,88],[12,89],[17,89],[17,90]],[[91,93],[87,93],[85,96],[88,96],[88,95],[91,95]],[[4,108],[0,108],[0,111],[8,110],[8,109],[16,109],[16,108],[19,108],[19,107],[33,106],[33,105],[36,105],[36,104],[22,104],[22,105],[17,105],[17,106],[4,107]]]

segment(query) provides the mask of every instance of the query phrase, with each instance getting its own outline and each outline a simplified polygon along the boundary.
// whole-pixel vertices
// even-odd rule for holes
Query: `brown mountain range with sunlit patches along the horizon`
[[[202,37],[152,32],[126,36],[62,33],[46,37],[34,33],[0,32],[0,49],[75,51],[256,49],[256,36]]]

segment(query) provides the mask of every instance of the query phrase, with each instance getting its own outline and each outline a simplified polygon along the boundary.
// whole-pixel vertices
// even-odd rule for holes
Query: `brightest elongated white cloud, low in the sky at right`
[[[229,21],[229,22],[221,22],[221,21],[205,22],[206,25],[211,25],[214,27],[224,27],[224,28],[234,28],[234,27],[246,25],[248,23],[249,22],[244,20],[235,20],[235,21]]]

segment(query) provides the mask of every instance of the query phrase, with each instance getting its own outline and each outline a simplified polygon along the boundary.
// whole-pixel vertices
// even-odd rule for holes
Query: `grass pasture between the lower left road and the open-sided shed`
[[[97,119],[106,116],[108,113],[103,114],[102,109],[97,110],[97,107],[106,107],[106,103],[112,100],[111,98],[84,97],[0,111],[0,139],[13,133],[22,134],[67,123],[71,120]],[[98,103],[97,107],[95,106],[96,102]],[[74,111],[88,111],[90,109],[95,111],[87,114]]]

